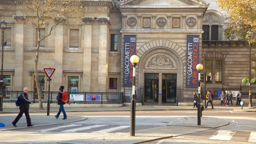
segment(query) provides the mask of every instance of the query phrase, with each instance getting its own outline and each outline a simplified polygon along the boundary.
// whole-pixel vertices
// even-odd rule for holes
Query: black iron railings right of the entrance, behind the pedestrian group
[[[206,91],[205,91],[206,90]],[[203,86],[201,86],[201,102],[205,100],[205,95],[207,91],[238,91],[241,90],[242,93],[242,99],[248,99],[249,98],[249,85],[240,85],[240,86],[207,86],[206,89]],[[177,89],[177,97],[179,98],[179,102],[193,102],[194,95],[193,93],[196,92],[198,94],[198,88],[182,88],[179,86]],[[256,98],[256,85],[251,85],[251,91],[252,91],[252,98]],[[218,97],[214,97],[213,100],[219,100]]]

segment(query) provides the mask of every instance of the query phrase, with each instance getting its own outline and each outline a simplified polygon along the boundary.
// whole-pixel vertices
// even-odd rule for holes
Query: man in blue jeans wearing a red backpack
[[[60,105],[60,108],[59,108],[59,112],[57,113],[57,115],[55,117],[56,117],[56,119],[58,119],[59,116],[60,116],[60,113],[62,111],[62,113],[64,115],[64,118],[62,118],[62,119],[67,119],[68,117],[67,117],[67,114],[66,114],[66,112],[64,110],[64,104],[66,104],[68,102],[68,104],[70,105],[70,102],[68,101],[67,93],[63,91],[64,90],[64,86],[63,85],[60,86],[59,90],[60,91],[58,93],[57,100],[58,100],[58,105]]]

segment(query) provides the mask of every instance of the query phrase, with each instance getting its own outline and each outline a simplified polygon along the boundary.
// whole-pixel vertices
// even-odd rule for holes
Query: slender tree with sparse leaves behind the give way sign
[[[36,59],[35,59],[35,78],[38,92],[39,108],[43,110],[41,89],[37,73],[39,60],[39,47],[45,37],[50,36],[52,30],[58,25],[77,25],[77,20],[81,18],[81,0],[16,0],[17,9],[24,15],[24,18],[17,22],[32,24],[37,28]],[[40,28],[45,28],[46,24],[51,23],[49,32],[45,31],[45,36],[41,36]]]

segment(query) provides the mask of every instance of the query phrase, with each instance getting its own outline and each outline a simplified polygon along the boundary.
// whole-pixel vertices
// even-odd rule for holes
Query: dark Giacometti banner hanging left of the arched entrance
[[[123,86],[132,86],[133,67],[130,57],[136,54],[136,35],[124,35]]]

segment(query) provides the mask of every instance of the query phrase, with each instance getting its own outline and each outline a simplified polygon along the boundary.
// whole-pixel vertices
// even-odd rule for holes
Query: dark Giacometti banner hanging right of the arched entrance
[[[199,35],[187,36],[186,87],[198,87]]]

